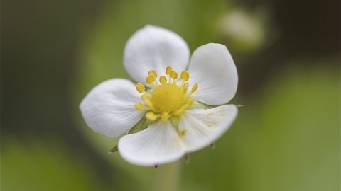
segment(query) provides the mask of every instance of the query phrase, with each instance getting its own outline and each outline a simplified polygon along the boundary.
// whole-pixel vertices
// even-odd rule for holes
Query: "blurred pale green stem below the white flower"
[[[154,190],[174,191],[178,190],[180,180],[181,160],[174,163],[168,163],[156,168],[157,174],[155,179]]]

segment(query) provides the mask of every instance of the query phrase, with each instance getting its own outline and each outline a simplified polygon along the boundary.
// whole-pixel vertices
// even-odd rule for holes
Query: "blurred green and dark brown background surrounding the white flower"
[[[101,81],[128,77],[124,45],[146,24],[191,52],[227,45],[239,72],[231,103],[244,105],[215,149],[156,170],[107,154],[119,138],[93,132],[78,109]],[[340,190],[340,2],[1,3],[1,190],[163,190],[167,180],[173,190]]]

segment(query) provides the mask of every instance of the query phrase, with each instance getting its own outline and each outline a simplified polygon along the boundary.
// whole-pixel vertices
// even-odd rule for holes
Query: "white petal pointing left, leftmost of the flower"
[[[95,132],[117,137],[129,131],[144,116],[136,110],[141,102],[134,83],[126,79],[110,79],[99,83],[80,103],[85,122]]]

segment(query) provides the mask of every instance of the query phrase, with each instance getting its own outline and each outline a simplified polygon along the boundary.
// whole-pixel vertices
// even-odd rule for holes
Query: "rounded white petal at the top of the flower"
[[[188,65],[190,50],[176,33],[165,28],[146,25],[136,31],[124,48],[124,67],[130,76],[146,86],[148,71],[155,69],[158,76],[166,75],[166,67],[183,71]]]

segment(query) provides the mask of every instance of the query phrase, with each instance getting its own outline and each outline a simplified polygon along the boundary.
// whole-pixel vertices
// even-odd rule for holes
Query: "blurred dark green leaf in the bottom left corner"
[[[72,158],[57,142],[28,143],[11,139],[1,146],[1,190],[94,190],[84,160]]]

